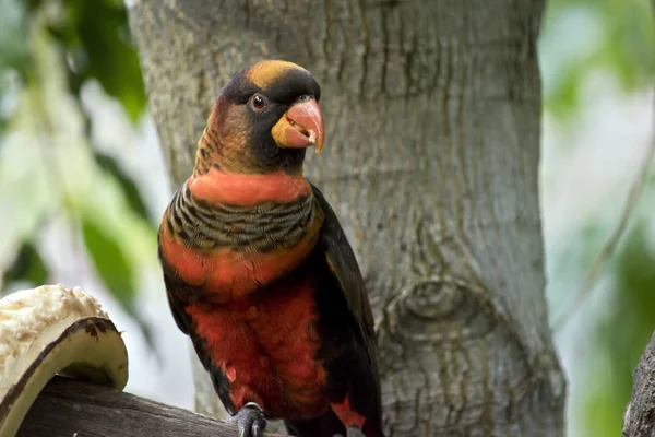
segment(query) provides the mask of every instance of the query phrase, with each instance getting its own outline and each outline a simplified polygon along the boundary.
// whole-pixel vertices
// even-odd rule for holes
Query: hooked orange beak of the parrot
[[[323,150],[325,133],[323,113],[315,99],[294,104],[271,129],[271,134],[279,147],[302,149],[317,146]]]

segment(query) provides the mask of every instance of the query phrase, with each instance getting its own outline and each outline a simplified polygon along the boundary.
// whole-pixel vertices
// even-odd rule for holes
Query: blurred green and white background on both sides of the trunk
[[[122,0],[0,11],[0,290],[92,292],[127,331],[127,390],[191,408],[189,350],[156,260],[170,189]],[[655,329],[648,0],[551,0],[539,46],[547,295],[569,435],[617,436]]]

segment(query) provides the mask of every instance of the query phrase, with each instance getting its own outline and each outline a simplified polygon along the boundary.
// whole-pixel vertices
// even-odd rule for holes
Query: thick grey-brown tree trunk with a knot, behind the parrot
[[[176,186],[231,74],[284,58],[318,78],[327,141],[306,174],[334,205],[369,286],[389,436],[563,434],[539,215],[543,8],[139,0],[130,9]]]

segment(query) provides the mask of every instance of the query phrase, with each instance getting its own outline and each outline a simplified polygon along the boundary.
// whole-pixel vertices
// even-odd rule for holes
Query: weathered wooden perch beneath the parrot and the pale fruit
[[[236,437],[237,428],[188,410],[57,376],[32,405],[17,436]]]

